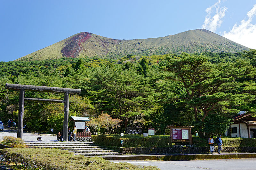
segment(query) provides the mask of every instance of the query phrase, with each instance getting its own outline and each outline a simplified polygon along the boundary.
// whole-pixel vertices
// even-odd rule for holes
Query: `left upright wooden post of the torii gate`
[[[17,137],[20,139],[22,139],[22,133],[23,133],[24,98],[25,98],[24,93],[25,93],[25,90],[20,89],[18,132],[17,132]]]

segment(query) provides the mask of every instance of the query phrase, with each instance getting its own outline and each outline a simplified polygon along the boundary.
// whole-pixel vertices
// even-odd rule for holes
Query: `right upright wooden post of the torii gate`
[[[69,97],[68,92],[64,94],[64,121],[63,121],[63,141],[68,141],[68,109]]]

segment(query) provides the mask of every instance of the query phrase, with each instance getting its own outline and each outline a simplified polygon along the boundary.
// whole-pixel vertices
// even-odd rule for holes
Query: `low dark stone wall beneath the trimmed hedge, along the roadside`
[[[222,147],[221,152],[256,152],[256,147]],[[218,147],[215,146],[215,152]],[[209,153],[210,147],[120,148],[123,154]]]

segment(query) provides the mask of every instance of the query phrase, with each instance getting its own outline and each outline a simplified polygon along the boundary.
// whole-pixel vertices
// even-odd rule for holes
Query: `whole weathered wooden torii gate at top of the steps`
[[[47,87],[47,86],[38,86],[38,85],[17,85],[17,84],[5,84],[5,89],[20,90],[19,118],[18,118],[18,132],[17,132],[18,138],[22,139],[22,134],[23,134],[23,117],[24,117],[24,100],[25,100],[25,101],[64,103],[63,141],[68,141],[68,109],[69,109],[68,94],[69,93],[80,94],[81,89]],[[64,100],[25,98],[25,90],[37,91],[37,92],[64,93]]]

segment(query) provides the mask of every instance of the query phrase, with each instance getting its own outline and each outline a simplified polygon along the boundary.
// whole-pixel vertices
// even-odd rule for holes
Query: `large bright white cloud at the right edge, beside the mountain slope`
[[[222,36],[246,47],[256,49],[256,24],[252,24],[252,18],[255,15],[256,4],[247,12],[247,20],[243,19],[239,25],[235,24],[229,32],[224,31]]]

